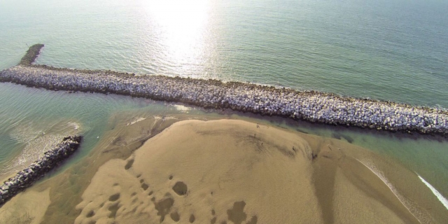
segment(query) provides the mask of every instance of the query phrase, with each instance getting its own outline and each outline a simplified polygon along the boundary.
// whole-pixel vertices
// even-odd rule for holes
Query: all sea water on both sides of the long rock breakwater
[[[0,69],[18,64],[29,45],[44,43],[37,64],[239,80],[448,108],[447,11],[447,1],[423,0],[2,0]],[[80,159],[113,116],[183,113],[178,109],[0,83],[0,168],[20,168],[66,134],[85,135]],[[446,140],[304,128],[325,137],[343,134],[394,158],[448,197]]]

